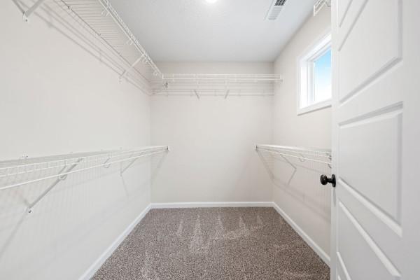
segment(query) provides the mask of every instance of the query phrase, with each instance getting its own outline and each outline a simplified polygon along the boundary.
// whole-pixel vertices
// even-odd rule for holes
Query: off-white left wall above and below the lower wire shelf
[[[48,1],[22,22],[0,9],[0,160],[150,144],[150,98],[119,83],[115,67],[76,38]],[[45,13],[48,11],[48,13]],[[69,176],[0,195],[0,279],[77,279],[151,201],[150,160]]]

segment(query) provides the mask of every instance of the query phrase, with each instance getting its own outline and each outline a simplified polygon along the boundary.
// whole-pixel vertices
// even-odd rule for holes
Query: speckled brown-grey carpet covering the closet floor
[[[272,208],[153,209],[93,279],[330,279]]]

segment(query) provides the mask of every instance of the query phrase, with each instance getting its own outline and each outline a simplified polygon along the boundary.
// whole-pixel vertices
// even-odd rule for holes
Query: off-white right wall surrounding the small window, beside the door
[[[331,109],[297,116],[297,57],[330,27],[330,9],[311,15],[274,62],[283,83],[274,97],[273,143],[286,146],[330,148]],[[293,160],[292,160],[293,161]],[[329,169],[301,163],[290,183],[290,165],[275,160],[274,202],[323,250],[330,252],[330,189],[321,186],[320,172]],[[295,162],[295,161],[294,161]],[[295,162],[299,164],[300,162]]]

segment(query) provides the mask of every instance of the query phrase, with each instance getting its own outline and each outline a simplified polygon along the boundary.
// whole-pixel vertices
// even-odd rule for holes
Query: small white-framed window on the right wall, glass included
[[[312,45],[298,62],[297,114],[331,105],[331,34]]]

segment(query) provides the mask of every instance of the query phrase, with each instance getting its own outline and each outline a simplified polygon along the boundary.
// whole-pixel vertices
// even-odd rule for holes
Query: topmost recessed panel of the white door
[[[367,1],[353,20],[356,22],[348,35],[343,32],[346,37],[338,48],[341,102],[349,99],[360,87],[371,83],[400,59],[399,0]],[[374,40],[371,39],[372,35]],[[352,54],[357,54],[357,57]]]

